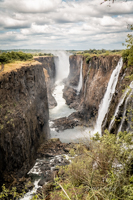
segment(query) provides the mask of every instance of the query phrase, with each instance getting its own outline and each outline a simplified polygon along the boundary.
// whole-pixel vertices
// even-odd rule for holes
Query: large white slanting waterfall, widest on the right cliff
[[[118,77],[119,77],[119,73],[120,70],[122,68],[123,65],[123,61],[122,58],[120,58],[116,68],[113,70],[113,73],[111,74],[108,86],[107,86],[107,90],[105,92],[105,95],[103,97],[103,100],[101,101],[100,105],[99,105],[99,110],[98,110],[98,118],[96,121],[96,126],[94,131],[95,132],[99,132],[99,134],[101,135],[101,126],[102,126],[102,122],[105,118],[105,115],[108,111],[110,102],[112,100],[112,96],[115,92],[115,87],[118,81]]]

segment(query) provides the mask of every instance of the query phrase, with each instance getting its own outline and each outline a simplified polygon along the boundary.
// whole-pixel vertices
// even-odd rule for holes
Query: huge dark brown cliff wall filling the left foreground
[[[0,76],[0,179],[24,176],[49,135],[47,88],[42,65]]]

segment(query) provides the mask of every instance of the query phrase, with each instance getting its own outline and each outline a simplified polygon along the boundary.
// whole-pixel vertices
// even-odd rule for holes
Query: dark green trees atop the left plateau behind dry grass
[[[33,58],[33,55],[31,53],[24,53],[22,51],[19,52],[7,52],[7,53],[1,53],[0,54],[0,63],[6,64],[13,61],[26,61],[31,60]]]

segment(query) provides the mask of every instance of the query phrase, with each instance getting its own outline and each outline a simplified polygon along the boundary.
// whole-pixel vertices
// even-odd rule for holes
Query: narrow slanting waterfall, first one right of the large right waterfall
[[[116,116],[117,116],[117,114],[118,114],[118,112],[119,112],[120,106],[123,104],[127,93],[129,92],[129,90],[130,90],[132,87],[133,87],[133,81],[130,83],[129,88],[127,88],[127,89],[125,90],[124,94],[122,95],[122,97],[121,97],[121,99],[120,99],[120,101],[119,101],[119,103],[118,103],[118,105],[117,105],[117,107],[116,107],[115,114],[114,114],[114,116],[113,116],[113,118],[112,118],[112,120],[111,120],[111,122],[110,122],[110,125],[109,125],[109,131],[111,130],[111,128],[113,127],[113,125],[114,125],[114,123],[115,123],[115,118],[116,118]],[[123,114],[124,114],[124,113],[123,113]],[[121,130],[121,128],[120,128],[120,130]]]

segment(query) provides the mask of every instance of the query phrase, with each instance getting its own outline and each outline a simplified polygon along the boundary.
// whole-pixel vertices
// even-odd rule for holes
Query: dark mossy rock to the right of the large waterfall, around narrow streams
[[[120,75],[119,75],[119,80],[116,86],[116,91],[113,95],[112,101],[110,103],[110,107],[108,110],[107,115],[105,116],[105,122],[103,124],[103,130],[105,129],[110,129],[109,131],[113,134],[117,134],[119,127],[121,125],[121,121],[123,118],[123,114],[125,111],[125,116],[124,116],[124,121],[122,124],[122,131],[131,131],[133,127],[133,122],[132,122],[132,109],[133,109],[133,89],[130,89],[125,98],[123,99],[123,102],[119,104],[121,99],[123,98],[124,92],[126,91],[127,87],[130,85],[131,80],[127,78],[129,75],[132,74],[132,66],[126,67],[126,64],[124,63],[123,68],[121,69]],[[131,94],[131,95],[130,95]],[[115,118],[115,123],[110,126],[110,122],[112,118],[114,117],[116,108],[120,105],[116,118]],[[109,128],[110,127],[110,128]]]

